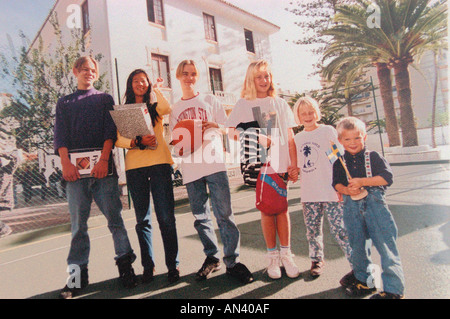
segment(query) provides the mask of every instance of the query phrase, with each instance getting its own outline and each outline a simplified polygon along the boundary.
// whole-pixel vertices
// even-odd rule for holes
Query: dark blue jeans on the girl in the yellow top
[[[161,230],[166,266],[169,270],[177,268],[179,264],[178,239],[170,165],[159,164],[132,169],[126,171],[126,175],[136,213],[136,233],[141,248],[141,262],[144,270],[151,270],[155,266],[153,261],[150,192]]]

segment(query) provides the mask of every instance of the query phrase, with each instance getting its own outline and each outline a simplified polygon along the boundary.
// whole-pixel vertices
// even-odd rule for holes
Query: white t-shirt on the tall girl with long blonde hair
[[[258,114],[261,115],[260,118]],[[286,173],[289,167],[288,129],[297,126],[291,108],[279,97],[240,99],[231,111],[225,126],[237,127],[240,123],[253,121],[263,122],[259,125],[261,128],[269,126],[272,128],[270,165],[277,173]]]

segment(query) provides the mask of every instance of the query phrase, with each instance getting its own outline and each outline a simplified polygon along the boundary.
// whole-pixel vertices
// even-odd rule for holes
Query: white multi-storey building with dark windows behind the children
[[[53,12],[63,35],[81,28],[87,51],[104,56],[100,71],[108,73],[116,102],[136,68],[152,81],[162,77],[166,97],[175,102],[181,97],[176,67],[193,59],[200,69],[199,91],[214,92],[229,108],[248,64],[271,60],[269,37],[280,29],[224,0],[57,0]],[[55,36],[48,18],[32,46],[39,37],[51,49]]]

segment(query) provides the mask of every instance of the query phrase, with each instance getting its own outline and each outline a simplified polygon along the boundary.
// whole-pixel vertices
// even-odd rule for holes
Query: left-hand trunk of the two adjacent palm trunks
[[[383,101],[389,146],[400,146],[400,134],[394,108],[394,97],[392,95],[391,71],[386,63],[377,63],[377,75],[380,82],[380,94]]]

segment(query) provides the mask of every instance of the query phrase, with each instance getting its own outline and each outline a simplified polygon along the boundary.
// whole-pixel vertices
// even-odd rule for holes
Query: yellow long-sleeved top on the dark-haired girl
[[[158,105],[156,106],[156,111],[162,117],[163,115],[169,114],[172,111],[169,102],[158,90],[154,91],[156,93],[156,99]],[[164,140],[164,127],[162,123],[162,118],[157,119],[156,125],[153,128],[156,135],[156,140],[158,146],[154,150],[145,149],[140,150],[138,147],[131,148],[131,139],[123,137],[117,132],[116,146],[128,149],[125,156],[125,170],[153,166],[158,164],[173,164],[172,155],[170,154],[169,147]]]

